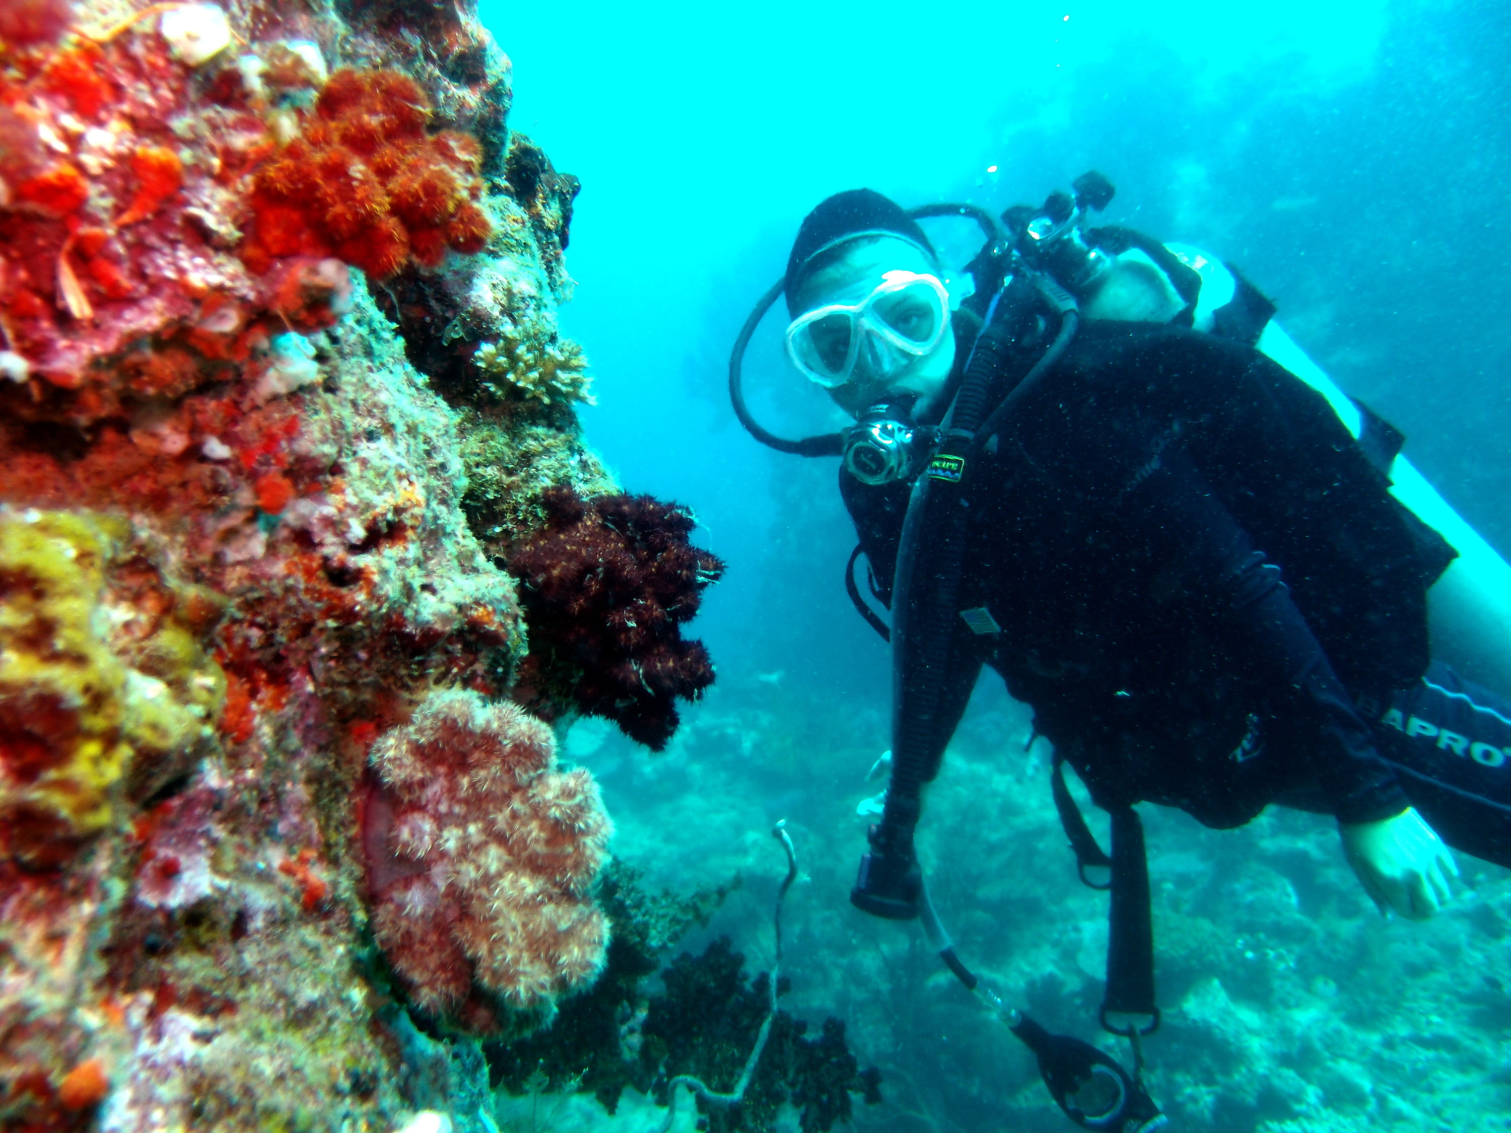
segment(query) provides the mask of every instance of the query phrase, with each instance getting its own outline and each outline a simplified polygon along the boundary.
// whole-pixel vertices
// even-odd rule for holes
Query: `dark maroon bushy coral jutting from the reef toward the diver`
[[[612,719],[651,751],[677,730],[677,699],[713,683],[709,651],[684,641],[703,589],[724,563],[694,547],[697,526],[650,495],[585,502],[570,488],[544,497],[545,529],[509,559],[524,583],[530,657],[521,683]]]

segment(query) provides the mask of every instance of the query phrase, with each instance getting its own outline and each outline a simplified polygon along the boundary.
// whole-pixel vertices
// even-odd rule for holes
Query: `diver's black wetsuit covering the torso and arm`
[[[1386,450],[1367,453],[1250,347],[1086,325],[972,471],[961,609],[991,621],[956,628],[940,749],[985,663],[1103,805],[1177,805],[1210,826],[1275,801],[1345,822],[1417,802],[1438,819],[1399,772],[1413,752],[1426,780],[1446,769],[1511,801],[1511,778],[1482,775],[1503,760],[1472,746],[1503,755],[1511,709],[1449,674],[1434,681],[1448,701],[1422,681],[1425,595],[1454,551],[1389,494],[1399,437],[1378,424]],[[887,598],[908,485],[840,480]],[[1410,734],[1429,701],[1481,728],[1449,733],[1463,769],[1432,746],[1446,725]]]

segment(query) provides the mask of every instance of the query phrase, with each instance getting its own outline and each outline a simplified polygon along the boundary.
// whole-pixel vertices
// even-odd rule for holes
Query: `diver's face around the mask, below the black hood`
[[[796,307],[799,311],[814,311],[831,304],[860,304],[879,286],[887,282],[888,272],[910,272],[913,275],[935,276],[938,267],[929,257],[907,240],[882,236],[876,239],[857,240],[849,249],[831,260],[823,267],[808,275],[798,289]],[[896,276],[893,276],[896,278]],[[896,301],[878,304],[888,325],[908,338],[925,340],[931,337],[940,313],[926,302],[911,301],[907,295],[899,295]],[[943,311],[947,320],[947,310]],[[928,323],[928,325],[925,325]],[[828,341],[827,334],[840,331],[816,323],[811,328],[813,346],[820,353],[823,350],[836,355],[845,353],[845,343]],[[848,338],[848,332],[846,338]],[[876,355],[861,350],[857,353],[855,367],[843,385],[830,388],[830,396],[852,417],[888,396],[901,393],[917,394],[916,409],[923,412],[937,399],[949,381],[950,367],[955,364],[955,337],[946,326],[938,335],[938,343],[926,353],[891,352]]]

